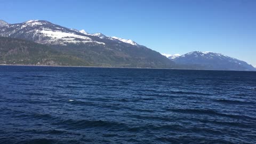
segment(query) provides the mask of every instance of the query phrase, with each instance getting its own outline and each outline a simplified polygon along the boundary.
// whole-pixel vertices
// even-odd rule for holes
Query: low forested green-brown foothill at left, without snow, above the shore
[[[49,46],[17,38],[0,37],[1,65],[91,66]]]

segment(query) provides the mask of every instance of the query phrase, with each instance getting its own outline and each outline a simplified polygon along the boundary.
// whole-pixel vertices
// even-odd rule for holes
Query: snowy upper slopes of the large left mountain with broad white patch
[[[0,36],[29,39],[41,44],[94,43],[90,37],[74,29],[68,29],[43,20],[29,20],[1,27]]]

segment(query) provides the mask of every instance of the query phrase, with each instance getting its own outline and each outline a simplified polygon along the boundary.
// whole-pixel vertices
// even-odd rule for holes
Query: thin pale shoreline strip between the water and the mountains
[[[3,65],[0,66],[27,66],[27,67],[75,67],[75,68],[124,68],[124,69],[170,69],[170,70],[205,70],[205,71],[252,71],[252,70],[214,70],[214,69],[179,69],[179,68],[138,68],[138,67],[93,67],[93,66],[47,66],[47,65]],[[255,71],[252,71],[255,72]]]

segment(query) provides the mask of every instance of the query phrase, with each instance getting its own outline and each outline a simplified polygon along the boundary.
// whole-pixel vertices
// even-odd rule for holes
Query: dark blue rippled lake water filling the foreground
[[[0,66],[0,143],[256,143],[256,73]]]

